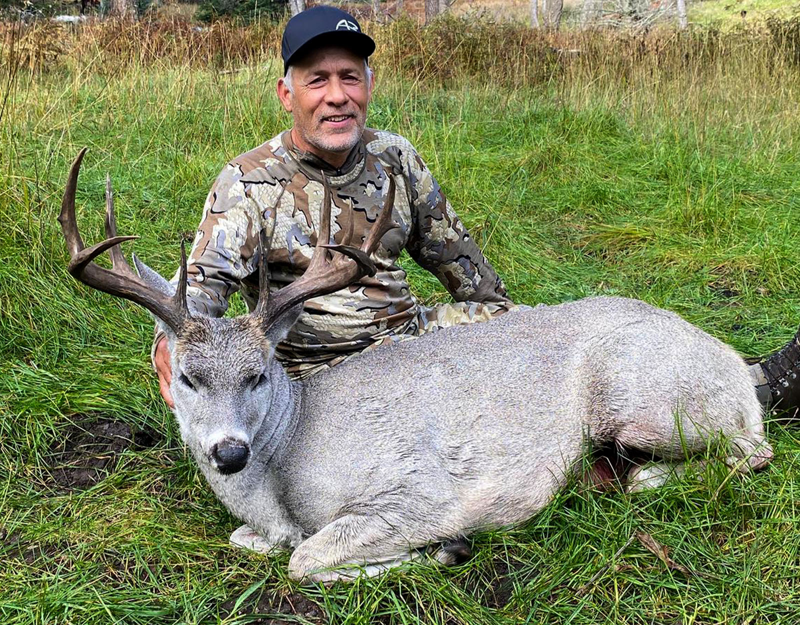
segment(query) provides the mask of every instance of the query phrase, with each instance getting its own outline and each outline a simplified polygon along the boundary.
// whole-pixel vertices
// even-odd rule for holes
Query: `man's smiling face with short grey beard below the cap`
[[[373,82],[364,59],[343,48],[314,50],[293,65],[294,94],[281,78],[278,98],[294,118],[298,148],[341,165],[361,138]]]

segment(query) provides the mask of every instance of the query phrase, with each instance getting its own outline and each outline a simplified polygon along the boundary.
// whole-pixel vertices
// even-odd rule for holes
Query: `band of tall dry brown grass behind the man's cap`
[[[519,22],[474,20],[450,15],[421,27],[412,18],[387,24],[366,22],[376,39],[374,65],[387,73],[438,84],[458,78],[491,79],[509,86],[550,81],[557,74],[626,77],[634,72],[726,72],[754,58],[765,72],[800,59],[800,18],[747,26],[734,32],[570,30],[548,34]],[[238,26],[216,22],[198,27],[178,14],[139,22],[51,22],[0,24],[0,59],[5,70],[30,73],[62,66],[170,65],[220,69],[278,57],[282,24]]]

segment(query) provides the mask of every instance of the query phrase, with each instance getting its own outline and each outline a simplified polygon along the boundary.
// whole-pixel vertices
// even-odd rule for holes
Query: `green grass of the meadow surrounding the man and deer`
[[[583,45],[589,60],[535,85],[466,70],[414,81],[386,54],[370,125],[414,142],[517,301],[622,294],[677,310],[745,355],[781,346],[800,322],[798,67],[732,40],[691,58],[679,48],[689,43],[668,42],[678,52],[663,63],[600,36]],[[778,421],[774,463],[758,475],[714,463],[702,480],[643,495],[571,487],[526,526],[474,537],[474,559],[454,571],[300,588],[287,555],[228,547],[238,523],[159,399],[150,319],[69,278],[55,217],[66,168],[88,145],[84,237],[101,236],[108,171],[121,234],[142,237],[128,251],[171,274],[222,164],[289,123],[276,66],[221,72],[162,58],[110,71],[99,58],[2,74],[4,623],[214,623],[226,601],[263,607],[284,595],[317,603],[328,623],[794,622],[800,441]],[[406,266],[422,298],[445,298]],[[62,491],[48,467],[80,415],[161,438],[125,451],[96,486]],[[695,575],[637,541],[613,559],[634,529]]]

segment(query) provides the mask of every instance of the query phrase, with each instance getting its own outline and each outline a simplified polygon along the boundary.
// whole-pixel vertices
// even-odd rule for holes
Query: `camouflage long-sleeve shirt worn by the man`
[[[378,273],[334,294],[306,301],[298,323],[278,346],[277,358],[291,371],[302,363],[337,362],[387,336],[414,334],[418,303],[397,262],[405,248],[436,275],[458,302],[510,300],[441,188],[405,138],[366,129],[339,169],[300,153],[286,131],[230,161],[211,188],[189,257],[190,306],[224,314],[227,299],[242,288],[252,310],[258,299],[258,238],[274,226],[267,257],[270,290],[298,278],[317,242],[322,171],[332,191],[331,235],[353,222],[354,244],[381,210],[387,179],[397,187],[392,217],[399,227],[383,238],[374,260]],[[274,223],[273,223],[274,222]]]

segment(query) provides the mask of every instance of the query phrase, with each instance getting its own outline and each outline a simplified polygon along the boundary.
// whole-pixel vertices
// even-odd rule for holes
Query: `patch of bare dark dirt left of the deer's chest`
[[[66,427],[63,438],[51,450],[50,475],[67,491],[78,491],[106,479],[123,451],[154,447],[160,436],[149,428],[91,417]]]

